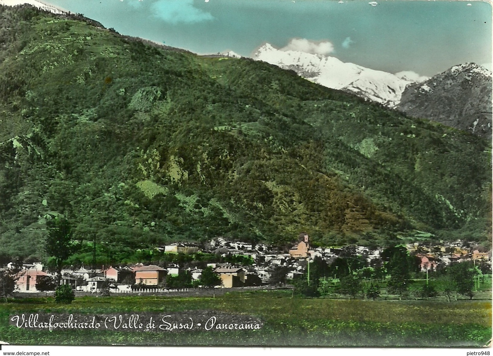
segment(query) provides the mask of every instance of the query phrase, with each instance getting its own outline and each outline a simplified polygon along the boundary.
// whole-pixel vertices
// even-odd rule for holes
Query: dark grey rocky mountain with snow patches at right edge
[[[492,138],[492,72],[475,63],[454,66],[406,87],[397,109]]]

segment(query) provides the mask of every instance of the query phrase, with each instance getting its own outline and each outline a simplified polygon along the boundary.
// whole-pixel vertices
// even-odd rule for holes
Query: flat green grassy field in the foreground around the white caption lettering
[[[200,311],[260,319],[260,330],[117,332],[27,330],[9,315],[87,315]],[[0,304],[0,340],[11,344],[412,346],[480,347],[492,336],[490,301],[370,301],[291,298],[290,291],[225,293],[212,298],[166,296],[78,297],[71,305],[26,298]]]

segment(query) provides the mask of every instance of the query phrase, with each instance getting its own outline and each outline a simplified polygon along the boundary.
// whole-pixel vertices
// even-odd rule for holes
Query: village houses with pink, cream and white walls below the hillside
[[[491,251],[480,252],[463,247],[462,241],[442,242],[440,245],[424,246],[419,243],[405,245],[410,254],[421,258],[421,271],[434,271],[439,266],[448,266],[453,262],[462,261],[487,261],[491,263]],[[226,255],[241,255],[251,258],[252,264],[248,266],[209,263],[215,273],[221,278],[222,284],[216,287],[231,288],[244,286],[261,286],[269,284],[272,271],[276,266],[287,267],[288,280],[303,276],[307,261],[316,257],[323,259],[330,265],[340,254],[338,248],[314,248],[310,247],[308,235],[301,234],[296,245],[288,253],[274,252],[274,249],[265,244],[252,244],[245,242],[231,242],[224,238],[217,238],[206,244],[205,249],[189,243],[174,243],[158,248],[168,253],[195,253],[198,251],[218,253]],[[368,263],[373,259],[379,259],[382,249],[370,250],[366,247],[355,247],[356,254],[363,256]],[[12,263],[4,268],[11,268]],[[72,285],[79,292],[96,293],[105,281],[112,285],[112,293],[132,292],[170,292],[162,288],[167,276],[176,276],[184,266],[169,264],[165,267],[157,265],[136,264],[132,266],[109,266],[102,269],[90,269],[80,267],[77,269],[62,270],[62,284]],[[187,269],[193,280],[199,280],[202,269]],[[36,278],[39,276],[52,276],[54,273],[46,271],[41,263],[24,264],[18,273],[16,291],[36,293]],[[187,291],[183,289],[181,291]]]

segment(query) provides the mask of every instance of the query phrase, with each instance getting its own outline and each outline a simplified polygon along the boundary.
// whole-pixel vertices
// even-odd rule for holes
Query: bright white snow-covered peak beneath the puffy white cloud
[[[401,94],[412,81],[385,71],[375,71],[320,54],[279,50],[266,43],[253,59],[290,69],[323,86],[352,92],[389,107],[397,105]]]

